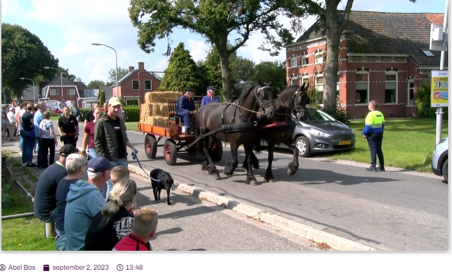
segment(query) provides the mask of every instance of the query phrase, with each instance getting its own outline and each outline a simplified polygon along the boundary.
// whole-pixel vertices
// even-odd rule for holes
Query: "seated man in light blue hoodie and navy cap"
[[[64,225],[66,250],[84,250],[91,221],[105,205],[100,190],[110,178],[113,167],[105,157],[91,159],[86,166],[88,181],[78,180],[69,187]]]

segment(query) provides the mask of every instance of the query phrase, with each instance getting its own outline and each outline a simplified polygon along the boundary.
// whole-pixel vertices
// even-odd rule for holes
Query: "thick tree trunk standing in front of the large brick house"
[[[326,13],[326,63],[323,71],[323,108],[328,112],[336,112],[336,92],[339,66],[340,32],[337,12]]]

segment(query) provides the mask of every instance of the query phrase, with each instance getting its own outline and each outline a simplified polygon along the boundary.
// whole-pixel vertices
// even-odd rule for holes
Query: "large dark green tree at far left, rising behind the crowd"
[[[50,53],[38,36],[27,29],[7,23],[1,24],[1,85],[12,90],[15,97],[22,97],[23,90],[31,86],[30,80],[39,76],[51,79],[55,70],[45,66],[58,67],[58,59]],[[35,81],[35,85],[39,81]]]

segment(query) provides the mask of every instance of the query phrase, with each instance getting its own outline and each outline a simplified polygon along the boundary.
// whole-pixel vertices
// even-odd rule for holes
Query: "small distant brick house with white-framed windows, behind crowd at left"
[[[69,81],[61,76],[50,81],[41,89],[42,100],[48,102],[48,105],[62,109],[61,102],[70,102],[70,105],[80,99],[79,89],[73,81]]]

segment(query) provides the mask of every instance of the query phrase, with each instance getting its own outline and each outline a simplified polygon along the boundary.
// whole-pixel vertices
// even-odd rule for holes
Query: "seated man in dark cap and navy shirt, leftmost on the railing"
[[[63,145],[60,149],[60,158],[46,168],[38,179],[34,191],[33,211],[34,217],[44,223],[55,221],[54,210],[56,208],[56,190],[60,180],[67,175],[66,157],[72,153],[78,153],[73,145]]]

